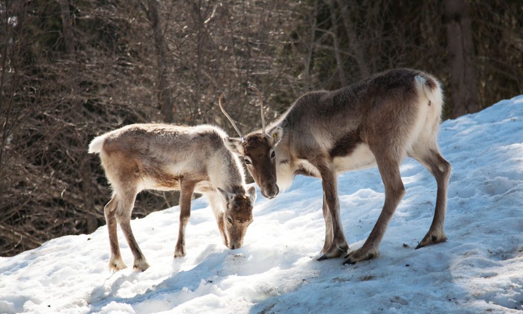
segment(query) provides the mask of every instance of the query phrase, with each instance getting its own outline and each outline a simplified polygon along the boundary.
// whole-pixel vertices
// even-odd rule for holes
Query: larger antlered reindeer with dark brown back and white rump
[[[339,214],[337,173],[378,166],[385,187],[376,225],[363,246],[345,256],[344,264],[354,264],[378,255],[385,229],[405,194],[400,163],[406,156],[430,171],[438,187],[433,222],[416,249],[446,241],[451,166],[437,144],[443,100],[435,77],[393,69],[338,90],[309,92],[268,128],[261,94],[251,88],[260,98],[263,129],[245,138],[237,130],[240,138],[225,138],[225,145],[243,156],[261,194],[269,199],[280,188],[287,189],[296,175],[322,179],[325,243],[319,261],[348,251]]]

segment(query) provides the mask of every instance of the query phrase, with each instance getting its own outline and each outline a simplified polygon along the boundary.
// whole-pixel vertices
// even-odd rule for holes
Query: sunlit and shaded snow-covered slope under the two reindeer
[[[406,194],[377,259],[316,261],[324,222],[319,179],[258,196],[245,246],[226,249],[210,208],[193,201],[185,258],[174,259],[178,207],[132,222],[151,268],[110,273],[107,228],[0,258],[0,312],[482,313],[523,309],[523,96],[441,125],[452,164],[448,242],[414,250],[434,214],[436,182],[412,159]],[[343,227],[356,249],[384,194],[377,169],[339,177]],[[120,232],[120,231],[119,231]],[[132,255],[120,233],[122,256]]]

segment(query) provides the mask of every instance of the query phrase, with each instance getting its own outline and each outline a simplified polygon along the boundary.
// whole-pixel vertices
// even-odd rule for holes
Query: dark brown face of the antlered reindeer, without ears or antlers
[[[251,173],[261,195],[272,199],[279,193],[276,184],[276,158],[274,148],[267,136],[256,133],[248,135],[243,146],[243,156],[247,170]]]

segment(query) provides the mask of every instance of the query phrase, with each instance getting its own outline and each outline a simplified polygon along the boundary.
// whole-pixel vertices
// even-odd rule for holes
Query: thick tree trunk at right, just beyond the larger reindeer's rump
[[[467,0],[445,1],[451,118],[480,110],[472,21]]]

